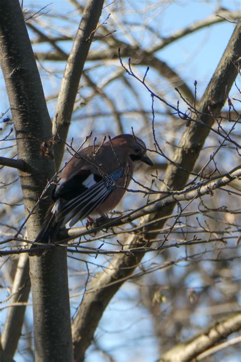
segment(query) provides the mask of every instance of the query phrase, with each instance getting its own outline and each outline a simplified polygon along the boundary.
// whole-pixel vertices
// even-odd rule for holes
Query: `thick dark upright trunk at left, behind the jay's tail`
[[[20,171],[27,216],[33,210],[47,180],[55,172],[53,150],[49,144],[52,137],[51,120],[17,0],[3,0],[0,3],[0,28],[1,65],[15,126],[18,158],[28,165],[27,172]],[[27,221],[30,240],[35,240],[41,229],[47,204],[46,198]],[[34,303],[35,360],[71,361],[73,349],[66,250],[56,248],[46,255],[31,257],[30,275]],[[43,311],[41,318],[40,313]],[[44,333],[38,334],[39,330]]]

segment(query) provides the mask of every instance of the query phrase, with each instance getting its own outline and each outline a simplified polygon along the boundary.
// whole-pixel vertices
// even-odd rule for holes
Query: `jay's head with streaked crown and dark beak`
[[[149,166],[153,166],[153,162],[146,155],[146,145],[138,137],[128,134],[119,135],[112,138],[111,142],[122,147],[134,164],[144,162]]]

